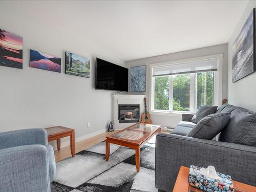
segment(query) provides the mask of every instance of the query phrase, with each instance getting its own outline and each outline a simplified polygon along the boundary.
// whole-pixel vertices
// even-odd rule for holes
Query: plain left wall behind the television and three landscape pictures
[[[78,141],[105,131],[111,120],[113,93],[95,90],[95,57],[125,62],[94,44],[81,30],[95,30],[90,19],[83,25],[69,3],[0,2],[0,29],[24,41],[23,69],[0,66],[0,132],[62,125],[75,129]],[[61,73],[30,68],[29,49],[61,57]],[[90,58],[90,78],[64,73],[65,51]]]

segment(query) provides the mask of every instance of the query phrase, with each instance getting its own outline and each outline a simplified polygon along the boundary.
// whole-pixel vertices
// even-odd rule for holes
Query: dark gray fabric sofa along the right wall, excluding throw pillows
[[[172,134],[156,137],[155,182],[159,191],[173,191],[180,166],[214,165],[233,180],[256,186],[256,113],[222,105],[216,113],[230,113],[230,120],[215,139],[187,137],[196,125],[183,114]]]

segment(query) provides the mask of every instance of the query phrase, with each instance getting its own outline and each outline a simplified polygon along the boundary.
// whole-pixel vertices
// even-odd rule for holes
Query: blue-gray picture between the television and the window
[[[131,67],[130,92],[146,91],[146,66]]]

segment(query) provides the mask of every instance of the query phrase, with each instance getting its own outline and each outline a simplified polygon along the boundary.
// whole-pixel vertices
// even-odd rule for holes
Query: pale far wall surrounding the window
[[[212,37],[214,38],[214,37]],[[126,67],[131,66],[140,66],[146,65],[146,92],[144,93],[148,98],[149,95],[149,86],[150,86],[150,77],[149,77],[149,65],[152,63],[166,62],[166,61],[175,61],[180,59],[195,58],[207,55],[215,55],[223,53],[223,87],[222,95],[223,99],[227,98],[227,44],[205,47],[200,49],[193,49],[188,51],[182,51],[177,53],[170,53],[165,55],[159,55],[154,57],[147,57],[137,60],[126,61]],[[129,75],[130,78],[130,75]],[[134,94],[134,93],[132,93]],[[138,93],[141,94],[141,93]],[[154,124],[167,125],[175,127],[181,120],[181,115],[167,116],[167,115],[151,115]]]

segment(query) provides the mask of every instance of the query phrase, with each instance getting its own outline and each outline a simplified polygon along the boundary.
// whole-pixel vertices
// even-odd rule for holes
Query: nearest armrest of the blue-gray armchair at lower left
[[[44,145],[0,150],[0,191],[51,191],[48,152]]]

